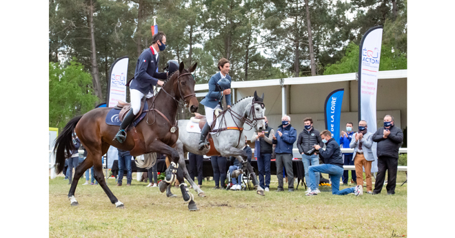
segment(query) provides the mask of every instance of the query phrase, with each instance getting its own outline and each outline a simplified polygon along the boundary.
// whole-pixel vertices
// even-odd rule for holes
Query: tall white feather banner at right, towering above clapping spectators
[[[370,28],[362,38],[358,54],[358,121],[367,121],[367,130],[372,133],[377,130],[376,93],[382,39],[383,26]],[[376,148],[377,144],[373,143],[372,172],[378,172]]]

